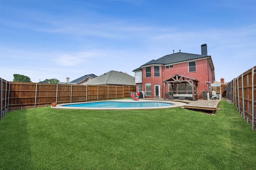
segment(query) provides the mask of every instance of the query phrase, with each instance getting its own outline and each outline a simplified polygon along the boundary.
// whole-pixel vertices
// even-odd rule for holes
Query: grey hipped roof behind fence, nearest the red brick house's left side
[[[103,85],[103,84],[116,84],[116,85],[130,85],[135,86],[135,78],[127,73],[119,71],[106,72],[88,82],[84,82],[83,85]]]

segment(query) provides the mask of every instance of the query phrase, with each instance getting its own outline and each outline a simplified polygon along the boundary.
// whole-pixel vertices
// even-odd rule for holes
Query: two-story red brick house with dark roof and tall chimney
[[[202,98],[202,91],[208,91],[206,82],[214,82],[215,75],[206,44],[201,45],[201,51],[201,55],[173,53],[136,68],[133,70],[136,91],[145,92],[146,98],[166,98],[176,94],[196,94]]]

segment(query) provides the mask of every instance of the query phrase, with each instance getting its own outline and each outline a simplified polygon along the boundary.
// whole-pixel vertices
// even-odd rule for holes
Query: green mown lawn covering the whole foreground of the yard
[[[256,132],[232,104],[219,108],[9,112],[0,169],[254,169]]]

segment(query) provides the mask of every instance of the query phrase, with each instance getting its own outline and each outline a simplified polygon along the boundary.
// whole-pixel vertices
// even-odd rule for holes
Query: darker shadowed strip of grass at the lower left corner
[[[9,112],[0,122],[0,169],[35,169],[31,160],[27,111]]]

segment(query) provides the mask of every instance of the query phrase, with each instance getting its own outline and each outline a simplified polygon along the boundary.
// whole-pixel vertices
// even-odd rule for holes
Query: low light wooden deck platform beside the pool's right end
[[[184,109],[194,109],[194,110],[202,110],[209,111],[215,114],[218,109],[220,100],[197,100],[191,102],[190,104],[186,104]]]

